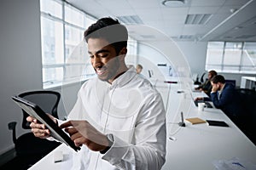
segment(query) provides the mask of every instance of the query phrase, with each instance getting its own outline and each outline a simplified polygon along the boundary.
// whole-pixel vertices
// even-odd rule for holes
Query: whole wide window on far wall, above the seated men
[[[206,70],[256,73],[256,42],[208,42]]]

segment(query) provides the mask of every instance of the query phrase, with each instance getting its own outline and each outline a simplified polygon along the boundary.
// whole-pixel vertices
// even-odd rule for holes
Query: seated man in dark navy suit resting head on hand
[[[238,127],[243,124],[246,110],[233,84],[226,83],[221,75],[212,77],[211,100],[213,105],[224,111]]]

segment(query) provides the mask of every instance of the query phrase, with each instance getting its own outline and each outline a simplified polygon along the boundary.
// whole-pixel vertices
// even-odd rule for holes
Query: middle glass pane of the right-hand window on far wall
[[[224,65],[238,66],[241,64],[241,42],[226,42]]]

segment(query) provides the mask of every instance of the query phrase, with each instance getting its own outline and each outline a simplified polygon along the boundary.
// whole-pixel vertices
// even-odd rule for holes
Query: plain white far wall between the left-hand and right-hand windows
[[[161,54],[161,49],[146,47],[143,43],[138,43],[138,55],[144,56],[149,59],[154,65],[158,63],[167,63],[167,65],[174,65],[177,67],[183,62],[189,64],[191,73],[198,73],[201,75],[205,71],[205,62],[207,55],[207,42],[157,42],[161,44],[162,48],[166,46],[166,56]],[[171,47],[172,46],[172,47]],[[157,51],[160,50],[160,51]],[[181,59],[183,58],[183,59]],[[140,59],[138,59],[140,62]],[[186,65],[186,64],[183,64]],[[187,68],[186,68],[187,69]]]

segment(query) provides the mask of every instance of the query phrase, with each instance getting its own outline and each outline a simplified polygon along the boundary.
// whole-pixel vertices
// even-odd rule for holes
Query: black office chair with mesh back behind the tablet
[[[51,114],[58,118],[57,107],[61,99],[61,94],[54,91],[32,91],[18,95],[21,98],[32,101],[37,104],[44,112]],[[22,127],[30,129],[30,123],[26,122],[28,114],[23,111]],[[17,156],[27,157],[43,157],[47,155],[51,150],[61,143],[56,141],[49,141],[48,139],[39,139],[34,136],[32,132],[24,133],[16,139],[15,134],[16,122],[9,122],[8,127],[13,131],[13,141],[15,143],[15,150]]]

